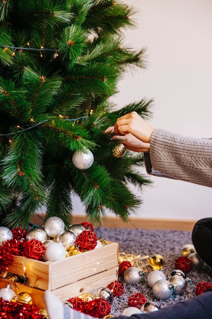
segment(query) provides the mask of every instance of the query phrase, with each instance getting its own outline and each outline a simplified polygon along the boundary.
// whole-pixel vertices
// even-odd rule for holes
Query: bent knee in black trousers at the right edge
[[[212,218],[200,219],[194,225],[192,242],[198,255],[212,268]]]

